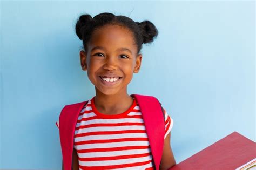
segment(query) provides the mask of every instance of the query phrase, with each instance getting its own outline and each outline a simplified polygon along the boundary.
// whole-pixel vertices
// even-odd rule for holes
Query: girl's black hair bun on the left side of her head
[[[92,22],[92,17],[89,14],[84,14],[81,15],[78,19],[77,19],[77,23],[76,23],[76,34],[79,37],[80,40],[83,39],[83,30],[86,29],[87,27],[91,26]]]

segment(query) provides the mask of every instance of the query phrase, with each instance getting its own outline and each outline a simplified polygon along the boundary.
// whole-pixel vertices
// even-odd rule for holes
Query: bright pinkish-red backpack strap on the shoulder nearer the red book
[[[156,170],[158,170],[164,149],[165,123],[162,115],[163,109],[156,97],[140,94],[131,94],[131,96],[136,98],[140,111],[142,112],[154,165],[156,166]]]

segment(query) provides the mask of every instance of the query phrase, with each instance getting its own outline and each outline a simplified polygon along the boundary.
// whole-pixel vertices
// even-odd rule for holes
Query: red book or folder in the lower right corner
[[[238,132],[233,132],[169,170],[242,169],[241,167],[246,163],[256,166],[254,158],[256,158],[256,143]]]

